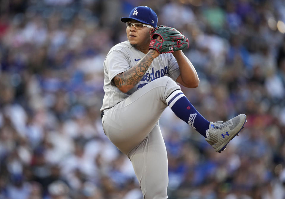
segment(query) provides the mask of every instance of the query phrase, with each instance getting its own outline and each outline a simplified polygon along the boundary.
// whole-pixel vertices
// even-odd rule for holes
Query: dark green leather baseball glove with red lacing
[[[161,40],[156,38],[160,36]],[[189,47],[188,39],[175,28],[157,26],[151,31],[151,43],[148,49],[157,50],[160,54],[170,53]]]

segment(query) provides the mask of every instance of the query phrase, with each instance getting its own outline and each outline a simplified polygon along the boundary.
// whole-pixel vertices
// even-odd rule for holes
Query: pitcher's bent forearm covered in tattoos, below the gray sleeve
[[[142,78],[151,62],[159,53],[156,50],[149,50],[147,54],[132,68],[117,74],[113,81],[123,93],[131,90]]]

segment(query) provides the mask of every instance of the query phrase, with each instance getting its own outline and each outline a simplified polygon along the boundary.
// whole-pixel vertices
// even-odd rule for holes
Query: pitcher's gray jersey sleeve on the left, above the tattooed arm
[[[105,59],[105,69],[109,77],[109,83],[115,86],[112,79],[119,73],[122,73],[130,69],[129,61],[126,55],[119,51],[113,50],[110,52]]]

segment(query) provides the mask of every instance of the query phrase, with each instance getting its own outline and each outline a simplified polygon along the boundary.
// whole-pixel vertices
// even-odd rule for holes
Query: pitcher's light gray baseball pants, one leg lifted
[[[145,199],[167,198],[167,153],[158,121],[166,98],[178,89],[170,77],[160,77],[104,111],[104,132],[131,160]]]

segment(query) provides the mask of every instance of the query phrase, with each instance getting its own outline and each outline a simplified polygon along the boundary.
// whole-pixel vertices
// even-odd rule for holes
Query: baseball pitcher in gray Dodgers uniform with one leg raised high
[[[136,7],[121,21],[126,23],[128,41],[112,47],[104,61],[102,125],[110,141],[131,160],[144,198],[165,199],[168,163],[159,128],[164,109],[169,106],[216,152],[240,132],[246,115],[209,122],[192,106],[178,86],[199,85],[194,66],[182,52],[188,39],[175,28],[157,26],[151,8]]]

